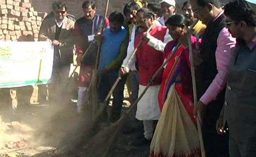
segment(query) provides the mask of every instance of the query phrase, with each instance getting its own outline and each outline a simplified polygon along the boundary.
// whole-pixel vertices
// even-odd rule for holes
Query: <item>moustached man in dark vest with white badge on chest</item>
[[[84,16],[78,19],[75,23],[75,36],[76,36],[76,52],[78,57],[77,64],[80,65],[80,76],[78,87],[78,101],[77,107],[80,113],[82,109],[83,99],[85,97],[87,88],[91,82],[92,71],[95,66],[96,54],[98,46],[94,40],[96,33],[100,32],[101,27],[104,25],[104,17],[96,14],[95,2],[87,0],[83,2],[82,9]],[[108,25],[108,24],[106,24]],[[82,58],[86,49],[92,44],[91,48]]]

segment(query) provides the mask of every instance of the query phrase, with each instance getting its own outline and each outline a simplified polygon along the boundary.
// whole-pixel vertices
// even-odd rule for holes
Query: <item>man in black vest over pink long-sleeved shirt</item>
[[[236,40],[225,28],[225,16],[218,0],[191,0],[192,10],[207,26],[200,45],[202,81],[194,116],[199,114],[207,157],[228,157],[228,135],[218,135],[215,126],[224,104],[231,48]]]

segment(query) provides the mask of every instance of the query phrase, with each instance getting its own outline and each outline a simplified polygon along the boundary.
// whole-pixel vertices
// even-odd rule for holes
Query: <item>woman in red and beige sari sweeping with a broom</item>
[[[173,15],[166,26],[173,41],[164,51],[169,58],[186,32],[186,18]],[[191,36],[192,44],[197,39]],[[193,89],[189,48],[179,46],[163,72],[158,96],[161,117],[150,145],[150,157],[199,157],[200,143],[193,118]]]

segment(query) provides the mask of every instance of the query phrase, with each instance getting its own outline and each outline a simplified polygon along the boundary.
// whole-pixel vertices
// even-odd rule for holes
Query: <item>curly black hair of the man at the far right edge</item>
[[[224,6],[224,14],[236,22],[245,21],[249,26],[256,26],[256,14],[245,0],[231,0]]]

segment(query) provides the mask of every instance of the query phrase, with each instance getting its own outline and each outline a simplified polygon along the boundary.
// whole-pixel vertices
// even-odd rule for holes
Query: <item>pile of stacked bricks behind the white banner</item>
[[[16,41],[21,35],[35,40],[47,13],[34,10],[29,0],[0,0],[0,40]]]

